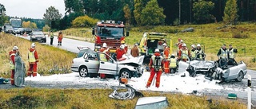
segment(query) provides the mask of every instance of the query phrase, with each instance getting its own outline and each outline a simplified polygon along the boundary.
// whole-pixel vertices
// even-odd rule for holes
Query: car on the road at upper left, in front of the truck
[[[46,43],[46,36],[42,31],[33,31],[30,35],[30,41],[42,41]]]

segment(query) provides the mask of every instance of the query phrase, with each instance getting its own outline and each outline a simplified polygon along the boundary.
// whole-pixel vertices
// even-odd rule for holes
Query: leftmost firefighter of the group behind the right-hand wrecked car
[[[190,56],[190,49],[186,48],[186,44],[182,44],[182,49],[179,50],[178,52],[178,60],[185,61],[188,60]]]

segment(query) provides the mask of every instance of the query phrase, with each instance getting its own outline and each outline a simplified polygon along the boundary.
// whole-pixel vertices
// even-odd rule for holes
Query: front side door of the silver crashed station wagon
[[[118,75],[118,64],[110,56],[106,55],[106,53],[98,53],[98,56],[102,57],[99,60],[98,73]]]

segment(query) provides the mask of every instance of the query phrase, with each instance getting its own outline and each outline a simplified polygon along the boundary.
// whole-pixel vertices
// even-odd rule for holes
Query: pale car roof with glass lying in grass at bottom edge
[[[166,109],[168,104],[166,96],[142,97],[138,99],[135,109]]]

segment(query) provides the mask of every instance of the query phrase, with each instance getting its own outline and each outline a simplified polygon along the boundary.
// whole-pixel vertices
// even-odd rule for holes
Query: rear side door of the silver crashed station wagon
[[[99,61],[97,53],[86,53],[85,64],[89,73],[98,73]]]

